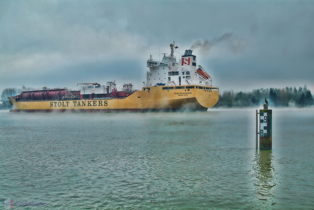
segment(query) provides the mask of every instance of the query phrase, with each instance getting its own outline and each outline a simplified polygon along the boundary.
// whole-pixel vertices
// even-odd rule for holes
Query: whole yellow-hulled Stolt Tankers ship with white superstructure
[[[44,87],[8,97],[14,108],[10,111],[206,111],[217,103],[219,88],[213,87],[209,74],[196,65],[192,50],[185,50],[177,62],[176,48],[175,42],[171,43],[170,54],[163,53],[162,60],[150,55],[142,90],[134,90],[129,82],[118,91],[115,81],[78,83],[81,88],[76,91]]]

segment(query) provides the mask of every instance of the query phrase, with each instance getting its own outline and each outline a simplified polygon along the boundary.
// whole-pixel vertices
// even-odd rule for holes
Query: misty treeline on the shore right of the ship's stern
[[[260,88],[253,89],[250,92],[224,91],[219,94],[219,100],[214,107],[249,107],[265,104],[265,98],[268,104],[274,107],[301,105],[310,106],[314,104],[311,91],[306,88],[285,87],[285,88]]]

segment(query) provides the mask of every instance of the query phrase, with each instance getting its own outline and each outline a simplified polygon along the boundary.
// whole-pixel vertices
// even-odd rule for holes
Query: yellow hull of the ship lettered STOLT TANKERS
[[[197,87],[195,85],[149,87],[143,88],[142,91],[136,91],[124,99],[15,101],[12,97],[9,97],[9,100],[14,107],[12,111],[206,110],[217,103],[219,98],[218,88],[199,86],[203,89],[198,89]]]

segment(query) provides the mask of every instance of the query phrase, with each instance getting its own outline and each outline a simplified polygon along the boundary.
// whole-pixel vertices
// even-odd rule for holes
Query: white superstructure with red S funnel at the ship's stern
[[[179,62],[176,62],[176,57],[173,56],[175,42],[170,44],[170,55],[164,54],[162,60],[152,59],[150,55],[147,60],[147,80],[146,87],[163,85],[203,85],[212,86],[212,81],[206,71],[196,65],[196,56],[192,55],[192,50],[185,50]]]

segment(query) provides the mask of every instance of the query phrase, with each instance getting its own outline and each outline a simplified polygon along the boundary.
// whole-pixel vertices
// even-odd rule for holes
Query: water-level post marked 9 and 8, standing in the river
[[[257,111],[256,111],[257,113]],[[259,149],[272,149],[272,110],[268,109],[268,104],[264,104],[264,109],[259,110]]]

